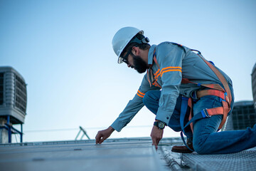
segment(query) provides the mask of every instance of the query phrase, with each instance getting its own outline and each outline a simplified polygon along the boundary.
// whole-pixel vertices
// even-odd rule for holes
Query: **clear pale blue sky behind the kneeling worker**
[[[78,126],[95,138],[133,98],[143,75],[117,64],[119,28],[144,30],[151,44],[198,49],[233,80],[235,100],[252,100],[256,1],[0,1],[0,66],[28,84],[24,141],[73,140]],[[143,108],[115,137],[149,136]],[[95,128],[95,129],[94,129]],[[33,130],[55,130],[43,131]],[[165,137],[178,136],[165,129]],[[15,141],[15,139],[14,139]]]

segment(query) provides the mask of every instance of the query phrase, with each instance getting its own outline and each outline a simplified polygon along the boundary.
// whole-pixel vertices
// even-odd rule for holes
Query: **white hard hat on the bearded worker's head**
[[[112,39],[112,46],[114,53],[116,53],[118,56],[118,63],[122,63],[122,58],[120,55],[122,51],[124,51],[125,46],[127,46],[129,41],[131,41],[132,38],[137,35],[137,33],[141,33],[143,35],[144,31],[134,27],[124,27],[115,33]]]

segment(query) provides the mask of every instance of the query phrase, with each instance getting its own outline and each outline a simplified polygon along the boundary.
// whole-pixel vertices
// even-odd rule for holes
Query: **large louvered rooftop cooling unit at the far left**
[[[24,123],[26,115],[26,83],[14,68],[0,67],[0,118],[12,124]]]

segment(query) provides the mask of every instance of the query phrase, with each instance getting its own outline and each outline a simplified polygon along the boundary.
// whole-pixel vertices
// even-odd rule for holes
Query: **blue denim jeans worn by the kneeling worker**
[[[230,88],[233,92],[233,89]],[[152,90],[144,95],[143,102],[152,113],[156,114],[159,108],[160,90]],[[196,115],[205,108],[215,108],[222,106],[218,97],[207,95],[200,98],[193,104],[193,113]],[[231,104],[233,108],[233,102]],[[178,96],[173,115],[168,126],[174,131],[181,131],[179,121],[181,111],[181,95]],[[230,114],[230,113],[229,113]],[[210,118],[196,120],[193,123],[193,134],[186,128],[185,135],[191,138],[193,135],[193,148],[198,154],[226,154],[240,152],[256,146],[256,124],[253,128],[246,130],[231,130],[218,132],[223,115],[213,115]],[[187,122],[184,121],[185,123]]]

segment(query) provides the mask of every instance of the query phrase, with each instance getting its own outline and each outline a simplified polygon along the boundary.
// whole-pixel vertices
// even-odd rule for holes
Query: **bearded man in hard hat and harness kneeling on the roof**
[[[186,146],[174,146],[174,152],[224,154],[255,147],[256,124],[247,130],[217,133],[233,108],[230,78],[199,51],[171,42],[150,46],[143,34],[137,28],[124,27],[114,35],[112,46],[118,63],[146,74],[119,117],[97,133],[96,143],[101,144],[114,130],[122,130],[146,105],[156,115],[151,130],[156,149],[166,125],[187,137]]]

